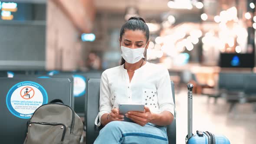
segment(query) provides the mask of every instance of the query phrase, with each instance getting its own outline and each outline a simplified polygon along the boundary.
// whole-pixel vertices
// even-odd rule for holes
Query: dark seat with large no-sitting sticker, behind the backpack
[[[26,97],[26,95],[22,96],[25,91],[23,90],[23,88],[26,89],[26,87],[20,87],[22,84],[25,83],[40,85],[36,86],[38,90],[36,90],[35,88],[33,89],[33,87],[30,86],[30,88],[33,89],[34,93],[33,91],[30,91],[31,93],[28,92],[28,94],[30,94],[30,98],[36,98],[31,99],[33,100],[33,102],[35,102],[35,104],[37,104],[36,101],[43,101],[43,103],[48,103],[48,101],[52,101],[53,99],[61,99],[64,104],[69,106],[71,105],[71,83],[69,79],[0,78],[0,96],[2,98],[2,100],[0,101],[0,112],[2,114],[0,119],[1,144],[23,144],[25,140],[27,121],[30,117],[26,117],[27,111],[19,110],[19,105],[23,106],[24,103],[26,103],[26,99],[21,98]],[[19,87],[20,89],[18,89]],[[41,92],[41,94],[39,92]],[[41,98],[40,95],[44,95],[43,100],[38,99]],[[15,100],[18,98],[20,98],[23,102],[20,100],[19,102],[18,100]],[[14,102],[17,103],[14,104],[10,102],[13,100],[15,100]],[[15,105],[18,105],[19,108],[16,107],[18,109],[13,110]],[[33,111],[33,109],[30,111]]]

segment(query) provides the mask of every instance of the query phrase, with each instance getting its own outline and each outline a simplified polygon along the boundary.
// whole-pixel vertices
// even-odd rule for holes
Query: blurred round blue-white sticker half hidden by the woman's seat
[[[86,79],[82,75],[73,75],[74,78],[74,97],[79,97],[85,94]]]

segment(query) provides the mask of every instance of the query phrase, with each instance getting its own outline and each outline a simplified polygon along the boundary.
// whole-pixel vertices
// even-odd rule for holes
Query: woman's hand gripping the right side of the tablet
[[[128,111],[128,113],[125,114],[125,116],[141,126],[144,126],[153,119],[153,114],[151,113],[150,109],[146,106],[144,107],[144,112]]]

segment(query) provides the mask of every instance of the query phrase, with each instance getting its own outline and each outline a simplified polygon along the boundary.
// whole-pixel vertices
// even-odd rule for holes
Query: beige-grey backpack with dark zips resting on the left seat
[[[37,108],[27,125],[24,144],[80,144],[83,131],[82,120],[59,99]]]

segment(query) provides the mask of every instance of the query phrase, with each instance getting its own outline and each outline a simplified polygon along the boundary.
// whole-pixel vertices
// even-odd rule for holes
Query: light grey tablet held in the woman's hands
[[[128,111],[141,111],[144,112],[144,105],[143,104],[119,104],[119,113],[120,115],[124,115]],[[124,121],[132,122],[129,118],[125,117]]]

